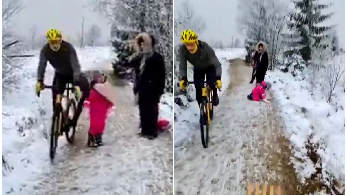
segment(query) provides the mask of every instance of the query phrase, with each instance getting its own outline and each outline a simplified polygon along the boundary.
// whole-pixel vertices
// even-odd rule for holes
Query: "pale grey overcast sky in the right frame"
[[[175,0],[175,12],[184,0]],[[327,0],[324,0],[325,2]],[[198,14],[206,20],[206,30],[202,39],[210,41],[231,42],[232,36],[244,39],[236,26],[236,16],[238,14],[238,0],[189,0],[193,3]],[[336,10],[336,15],[332,17],[332,23],[337,23],[337,33],[339,36],[340,46],[345,48],[345,0],[333,0],[335,5],[332,9]]]

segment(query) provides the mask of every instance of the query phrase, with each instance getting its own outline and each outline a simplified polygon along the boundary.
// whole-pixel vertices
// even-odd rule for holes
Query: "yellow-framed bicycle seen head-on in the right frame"
[[[187,82],[187,86],[189,84],[194,84],[196,82]],[[211,120],[213,120],[213,91],[211,90],[209,85],[205,84],[215,84],[215,82],[207,82],[204,81],[204,87],[201,88],[202,99],[200,103],[200,132],[201,132],[201,142],[204,148],[208,147],[209,144],[209,129]],[[221,91],[221,90],[219,90]],[[209,95],[207,95],[209,94]],[[206,127],[206,133],[204,133]]]

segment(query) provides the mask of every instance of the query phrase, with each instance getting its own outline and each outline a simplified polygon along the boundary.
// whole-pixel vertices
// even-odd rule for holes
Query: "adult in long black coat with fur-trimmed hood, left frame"
[[[135,50],[142,56],[135,70],[134,94],[140,111],[141,136],[153,139],[158,136],[160,97],[164,93],[164,59],[154,51],[154,37],[140,33],[135,37]]]

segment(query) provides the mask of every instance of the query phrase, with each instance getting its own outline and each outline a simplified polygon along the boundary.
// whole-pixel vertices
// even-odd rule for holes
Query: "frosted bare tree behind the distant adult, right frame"
[[[282,50],[281,33],[285,28],[288,5],[279,0],[240,0],[238,21],[247,38],[248,55],[256,43],[264,41],[269,54],[269,68],[273,69]],[[249,57],[248,57],[249,58]]]

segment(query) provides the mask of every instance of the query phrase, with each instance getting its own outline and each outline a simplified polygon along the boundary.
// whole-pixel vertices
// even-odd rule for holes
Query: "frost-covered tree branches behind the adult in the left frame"
[[[112,45],[118,52],[116,54],[119,52],[128,54],[125,46],[116,48],[118,45],[126,45],[125,40],[112,36],[112,34],[119,34],[117,31],[129,32],[126,35],[127,39],[132,39],[134,32],[147,32],[154,36],[156,40],[155,50],[164,57],[166,63],[166,90],[172,91],[172,0],[95,0],[93,6],[94,10],[102,12],[112,23]],[[122,69],[126,70],[122,71],[123,73],[132,75],[132,68],[128,69],[131,66],[124,66],[129,63],[126,63],[127,61],[119,62],[120,60],[124,60],[124,58],[117,57],[113,63],[115,71]],[[124,67],[120,68],[121,66]]]

